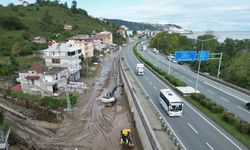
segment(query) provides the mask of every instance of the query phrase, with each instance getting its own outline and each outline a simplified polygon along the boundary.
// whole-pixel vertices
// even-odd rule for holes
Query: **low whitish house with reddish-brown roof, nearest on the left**
[[[19,73],[23,93],[52,96],[65,89],[69,71],[67,68],[46,68],[42,64],[33,64],[27,71]]]

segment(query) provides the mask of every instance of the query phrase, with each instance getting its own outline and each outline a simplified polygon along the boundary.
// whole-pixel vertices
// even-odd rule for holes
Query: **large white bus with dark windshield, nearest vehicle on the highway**
[[[182,116],[183,102],[170,89],[160,90],[159,101],[169,116]]]

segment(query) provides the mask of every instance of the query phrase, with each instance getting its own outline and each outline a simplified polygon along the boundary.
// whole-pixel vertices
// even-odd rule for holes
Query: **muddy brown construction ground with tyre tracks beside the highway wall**
[[[11,128],[9,149],[117,150],[124,149],[125,136],[132,140],[134,150],[143,149],[120,86],[118,60],[119,53],[115,52],[92,66],[96,73],[81,78],[87,89],[78,93],[79,100],[71,111],[55,114],[0,98]],[[102,98],[110,96],[114,101],[103,103]]]

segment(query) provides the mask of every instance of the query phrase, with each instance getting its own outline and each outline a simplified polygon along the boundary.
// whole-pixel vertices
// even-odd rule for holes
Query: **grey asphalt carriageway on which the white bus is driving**
[[[135,65],[139,62],[132,52],[133,44],[135,43],[130,43],[125,47],[124,56],[125,62],[132,71],[135,70]],[[170,128],[172,128],[181,141],[184,149],[247,150],[238,140],[233,138],[208,117],[203,116],[196,108],[183,99],[183,117],[169,117],[158,102],[160,89],[168,88],[168,86],[148,69],[145,69],[144,76],[136,76],[136,78],[160,110],[160,113],[163,114]]]

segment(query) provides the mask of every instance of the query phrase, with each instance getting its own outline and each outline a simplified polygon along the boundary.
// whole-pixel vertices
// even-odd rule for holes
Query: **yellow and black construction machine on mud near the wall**
[[[134,147],[134,143],[132,141],[132,133],[130,129],[126,128],[121,130],[120,143],[124,149],[132,149]]]

